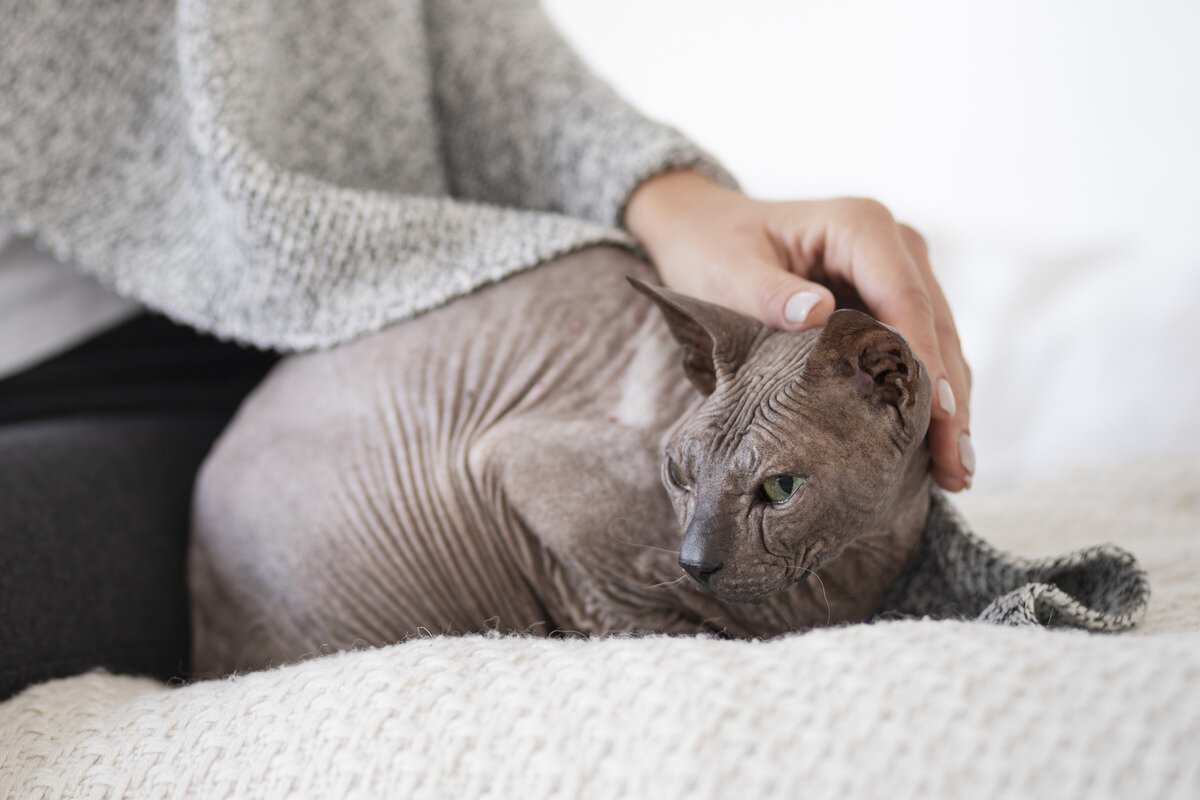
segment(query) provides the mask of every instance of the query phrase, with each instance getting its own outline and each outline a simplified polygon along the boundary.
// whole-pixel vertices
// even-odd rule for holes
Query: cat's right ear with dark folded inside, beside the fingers
[[[917,402],[922,366],[908,342],[858,311],[835,311],[804,365],[812,378],[842,380],[863,398],[905,413]]]

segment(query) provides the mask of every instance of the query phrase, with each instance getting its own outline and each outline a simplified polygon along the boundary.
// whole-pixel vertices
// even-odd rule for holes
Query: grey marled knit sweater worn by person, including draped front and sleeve
[[[0,213],[120,294],[318,348],[732,182],[533,0],[0,0]]]

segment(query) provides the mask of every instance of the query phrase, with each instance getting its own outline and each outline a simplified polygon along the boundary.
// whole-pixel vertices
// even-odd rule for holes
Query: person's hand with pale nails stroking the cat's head
[[[934,277],[925,241],[875,200],[772,203],[696,172],[642,184],[625,207],[662,281],[781,330],[824,325],[839,295],[857,294],[908,339],[934,383],[932,476],[971,487],[971,368]]]

